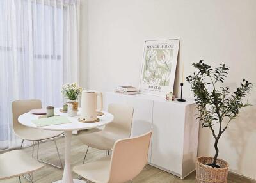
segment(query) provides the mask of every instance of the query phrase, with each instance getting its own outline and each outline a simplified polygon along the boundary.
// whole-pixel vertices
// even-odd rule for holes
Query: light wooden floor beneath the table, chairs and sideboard
[[[79,132],[85,133],[88,131]],[[64,138],[58,138],[56,139],[60,153],[61,158],[64,159]],[[28,154],[31,154],[32,148],[24,148],[24,152],[27,152]],[[83,145],[76,135],[72,136],[72,166],[75,166],[76,164],[81,164],[83,161],[84,152],[86,150],[86,145]],[[36,148],[35,148],[35,155],[36,155]],[[94,159],[98,159],[100,157],[104,157],[105,152],[101,150],[96,150],[93,148],[89,149],[88,155],[86,157],[86,161],[93,161]],[[44,161],[49,161],[54,164],[60,164],[58,162],[58,157],[56,154],[56,148],[54,147],[53,141],[46,141],[43,143],[40,143],[40,159],[43,159]],[[56,180],[60,180],[62,177],[63,170],[53,168],[52,166],[46,165],[41,170],[36,171],[33,173],[34,181],[36,183],[50,183],[54,182]],[[77,179],[77,175],[73,173],[74,179]],[[8,180],[0,180],[0,182],[4,183],[18,183],[19,179],[12,178]],[[22,183],[28,182],[26,179],[22,177]],[[159,170],[157,168],[154,168],[153,166],[145,166],[144,170],[134,179],[134,183],[139,182],[147,182],[147,183],[191,183],[195,182],[195,172],[191,173],[188,177],[186,177],[184,180],[181,180],[179,177],[175,177],[174,175],[170,173],[166,173],[165,171]],[[246,182],[253,182],[252,180],[248,180],[242,177],[238,177],[237,175],[230,174],[228,176],[228,183],[246,183]],[[254,182],[253,182],[254,183]]]

